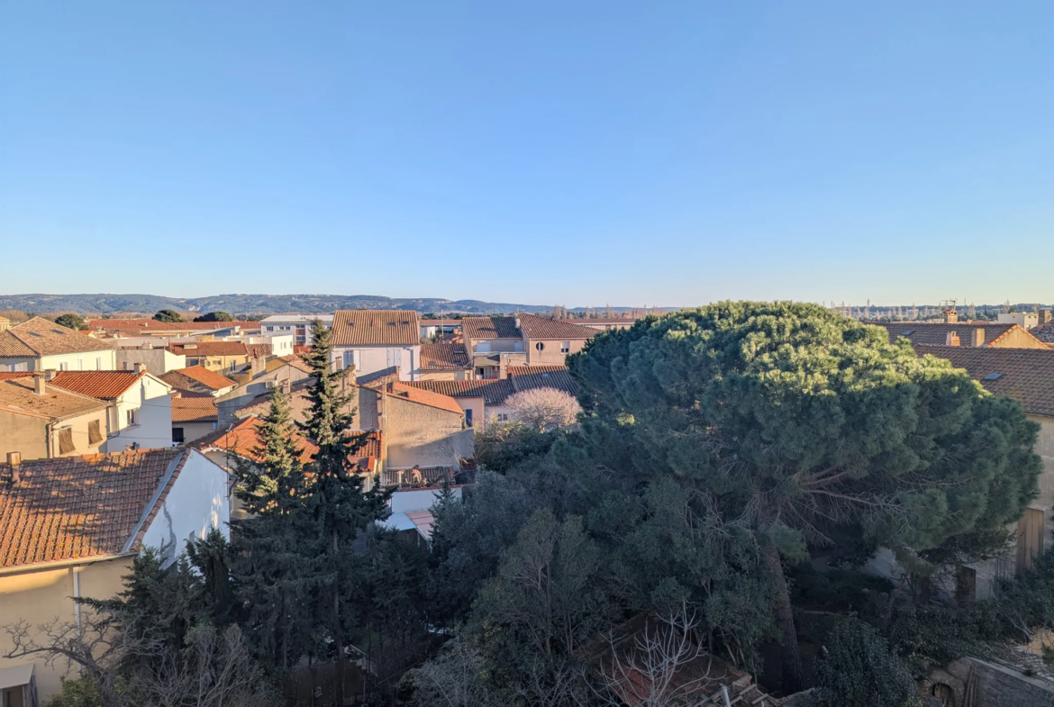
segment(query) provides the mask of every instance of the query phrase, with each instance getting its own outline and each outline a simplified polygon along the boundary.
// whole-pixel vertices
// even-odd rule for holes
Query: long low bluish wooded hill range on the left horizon
[[[378,295],[214,295],[211,297],[159,297],[157,295],[0,295],[0,310],[24,312],[76,312],[77,314],[153,314],[158,310],[180,312],[222,311],[231,314],[286,314],[332,312],[334,310],[416,310],[464,314],[502,312],[548,312],[551,305],[484,302],[477,299],[397,299]]]

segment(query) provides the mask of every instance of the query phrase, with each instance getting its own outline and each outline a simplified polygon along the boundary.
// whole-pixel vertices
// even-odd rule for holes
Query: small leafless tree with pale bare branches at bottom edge
[[[710,661],[696,640],[699,618],[686,605],[649,624],[629,646],[609,637],[610,656],[599,670],[600,698],[611,707],[694,704],[709,682]]]

